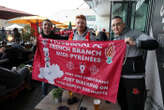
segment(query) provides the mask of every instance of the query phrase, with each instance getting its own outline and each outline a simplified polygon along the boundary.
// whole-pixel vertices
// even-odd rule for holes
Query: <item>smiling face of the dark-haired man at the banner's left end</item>
[[[45,35],[49,35],[51,33],[52,23],[49,21],[43,21],[42,29]]]

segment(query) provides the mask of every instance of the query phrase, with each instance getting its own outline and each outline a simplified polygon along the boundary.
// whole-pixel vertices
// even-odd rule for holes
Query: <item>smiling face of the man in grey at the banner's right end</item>
[[[115,18],[112,20],[112,30],[115,35],[120,35],[125,28],[125,24],[123,23],[122,19]]]

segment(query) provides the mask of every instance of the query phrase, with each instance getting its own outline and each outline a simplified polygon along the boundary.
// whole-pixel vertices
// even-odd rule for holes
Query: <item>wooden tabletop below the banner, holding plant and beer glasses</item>
[[[82,98],[82,95],[76,93],[73,93],[73,96],[76,96],[79,100]],[[50,93],[35,106],[34,110],[57,110],[57,107],[61,105],[69,107],[70,110],[78,110],[80,101],[78,103],[68,105],[68,98],[68,91],[64,91],[62,103],[55,103],[52,97],[52,91],[50,91]],[[80,106],[87,107],[87,110],[94,110],[93,99],[94,98],[92,97],[84,96]],[[104,100],[101,100],[100,110],[120,110],[120,107],[118,104],[108,104]]]

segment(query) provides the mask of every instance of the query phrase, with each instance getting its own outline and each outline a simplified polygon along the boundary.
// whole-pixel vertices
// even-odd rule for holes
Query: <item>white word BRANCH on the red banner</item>
[[[80,53],[85,55],[92,55],[92,56],[101,56],[101,51],[98,50],[85,50],[85,49],[79,49],[79,48],[72,48],[73,53]]]

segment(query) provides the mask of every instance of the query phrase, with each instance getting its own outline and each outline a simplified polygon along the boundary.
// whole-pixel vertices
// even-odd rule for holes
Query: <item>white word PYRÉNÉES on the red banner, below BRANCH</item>
[[[95,63],[101,62],[101,58],[85,56],[85,55],[70,54],[70,58],[75,59],[75,60],[95,62]]]

